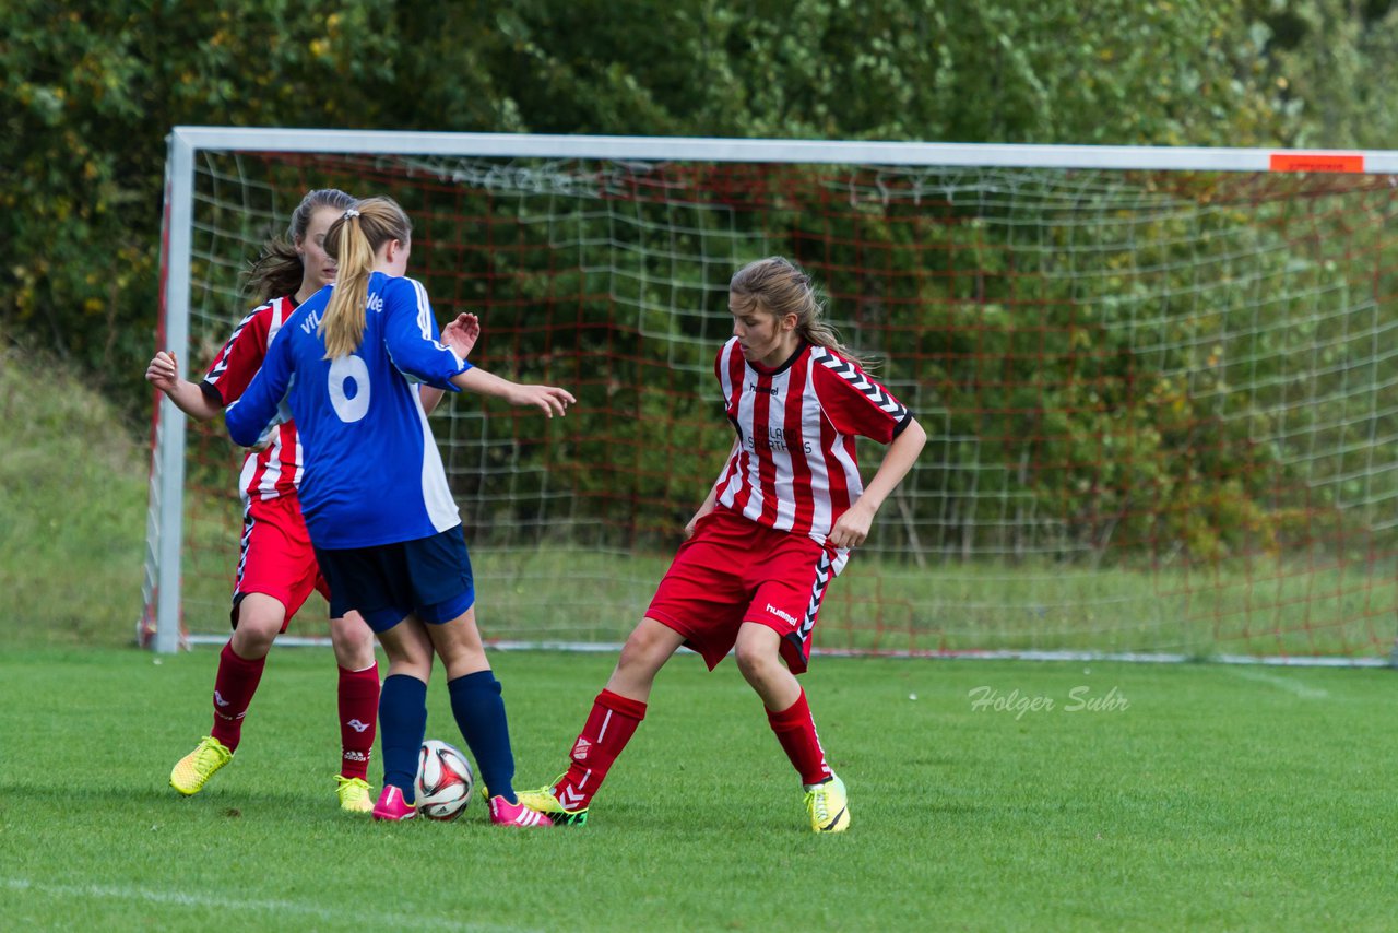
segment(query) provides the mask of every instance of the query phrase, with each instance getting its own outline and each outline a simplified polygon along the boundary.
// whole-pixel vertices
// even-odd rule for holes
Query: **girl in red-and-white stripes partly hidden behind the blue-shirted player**
[[[287,238],[268,243],[253,266],[247,288],[261,295],[261,304],[233,329],[204,379],[199,383],[182,379],[175,357],[161,351],[145,371],[147,380],[193,418],[207,421],[221,415],[257,375],[270,341],[296,305],[334,281],[336,262],[326,253],[326,232],[356,203],[337,189],[309,192],[292,211]],[[478,329],[474,320],[453,322],[443,330],[443,339],[460,337],[464,355]],[[439,389],[424,387],[424,408],[431,411],[440,397]],[[329,599],[301,513],[301,478],[296,425],[282,421],[267,429],[243,462],[239,480],[243,536],[233,582],[233,634],[219,653],[214,678],[212,729],[171,772],[171,785],[180,793],[197,793],[228,764],[242,739],[243,716],[261,681],[273,641],[287,631],[312,590]],[[343,809],[368,814],[373,796],[366,778],[379,713],[373,632],[358,613],[347,613],[330,620],[330,641],[340,667],[337,795]]]

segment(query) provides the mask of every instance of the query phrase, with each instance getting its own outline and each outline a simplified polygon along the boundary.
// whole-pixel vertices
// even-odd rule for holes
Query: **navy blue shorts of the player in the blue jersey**
[[[330,583],[330,615],[350,610],[386,632],[408,614],[428,624],[449,622],[475,603],[471,555],[461,527],[397,544],[316,548]]]

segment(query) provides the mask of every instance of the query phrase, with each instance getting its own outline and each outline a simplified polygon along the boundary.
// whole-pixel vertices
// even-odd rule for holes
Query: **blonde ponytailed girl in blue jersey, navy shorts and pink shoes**
[[[330,583],[331,610],[356,610],[389,656],[379,701],[383,793],[375,820],[407,820],[426,729],[433,655],[452,712],[489,789],[491,821],[545,827],[512,785],[514,758],[500,684],[475,627],[461,519],[415,383],[470,390],[565,414],[573,396],[484,372],[440,343],[422,284],[405,277],[412,225],[391,199],[347,210],[326,235],[337,284],[282,325],[261,371],[226,411],[236,443],[254,443],[285,404],[301,428],[301,508]],[[449,340],[454,340],[449,334]]]

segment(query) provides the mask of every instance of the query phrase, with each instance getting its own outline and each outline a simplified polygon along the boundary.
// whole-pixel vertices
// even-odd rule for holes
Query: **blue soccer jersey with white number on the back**
[[[471,364],[440,343],[422,284],[383,273],[369,277],[363,341],[326,359],[316,332],[333,288],[282,325],[257,376],[228,407],[228,434],[252,446],[289,407],[305,449],[301,509],[319,548],[411,541],[459,526],[417,383],[457,392],[450,379]]]

